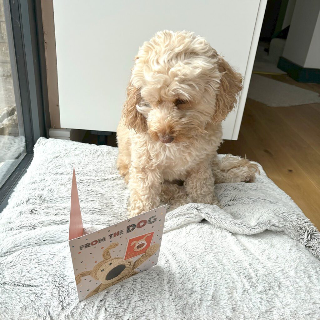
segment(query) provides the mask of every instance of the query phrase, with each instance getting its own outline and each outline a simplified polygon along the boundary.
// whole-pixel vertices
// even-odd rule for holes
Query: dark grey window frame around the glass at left
[[[14,93],[16,105],[21,104],[27,153],[0,187],[0,213],[31,163],[36,141],[47,138],[50,128],[41,1],[3,0],[3,3]]]

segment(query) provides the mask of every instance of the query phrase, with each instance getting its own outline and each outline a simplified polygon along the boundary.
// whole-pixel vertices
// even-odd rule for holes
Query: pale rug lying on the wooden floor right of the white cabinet
[[[248,98],[262,102],[269,107],[320,103],[320,97],[316,92],[256,74],[251,76]]]

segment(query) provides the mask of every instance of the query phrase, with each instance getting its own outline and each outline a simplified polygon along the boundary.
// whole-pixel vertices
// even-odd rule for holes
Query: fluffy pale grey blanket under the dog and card
[[[72,168],[90,232],[126,218],[116,156],[38,140],[0,214],[1,319],[319,319],[319,233],[262,168],[255,183],[216,186],[223,209],[169,212],[158,265],[79,303],[67,241]]]

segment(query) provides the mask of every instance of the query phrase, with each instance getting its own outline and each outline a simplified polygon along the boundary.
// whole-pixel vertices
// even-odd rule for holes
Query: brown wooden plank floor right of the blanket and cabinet
[[[320,93],[318,84],[288,76],[268,76]],[[320,106],[268,107],[247,99],[239,138],[226,140],[219,153],[259,162],[320,230]]]

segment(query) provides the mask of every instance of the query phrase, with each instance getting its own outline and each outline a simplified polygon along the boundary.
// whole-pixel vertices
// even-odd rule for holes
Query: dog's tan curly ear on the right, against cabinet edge
[[[242,90],[242,76],[237,73],[226,60],[218,56],[220,79],[219,93],[216,97],[216,109],[213,114],[213,122],[220,122],[226,118],[233,109],[239,92]]]

